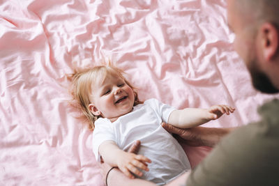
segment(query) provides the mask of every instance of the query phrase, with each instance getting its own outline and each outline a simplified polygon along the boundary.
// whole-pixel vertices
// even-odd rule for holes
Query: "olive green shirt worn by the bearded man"
[[[193,170],[187,186],[279,185],[279,100],[258,112],[262,121],[228,134]]]

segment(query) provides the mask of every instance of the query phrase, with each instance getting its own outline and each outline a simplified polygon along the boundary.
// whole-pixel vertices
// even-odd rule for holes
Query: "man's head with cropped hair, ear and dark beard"
[[[264,93],[279,92],[279,0],[228,0],[234,49],[245,61],[252,84]]]

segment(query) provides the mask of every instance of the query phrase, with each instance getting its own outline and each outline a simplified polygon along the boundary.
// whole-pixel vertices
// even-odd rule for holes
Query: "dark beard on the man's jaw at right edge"
[[[273,86],[271,80],[264,72],[260,72],[257,68],[256,59],[250,61],[250,65],[248,66],[248,70],[250,71],[250,75],[252,77],[252,85],[262,93],[279,93],[278,88]]]

